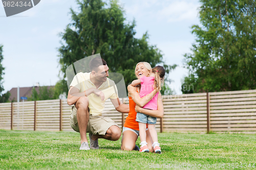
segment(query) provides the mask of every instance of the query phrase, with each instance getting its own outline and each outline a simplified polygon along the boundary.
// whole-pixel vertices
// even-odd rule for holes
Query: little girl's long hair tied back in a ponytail
[[[152,72],[155,73],[155,85],[157,90],[161,90],[161,86],[164,83],[165,70],[162,66],[158,65],[152,69]]]

